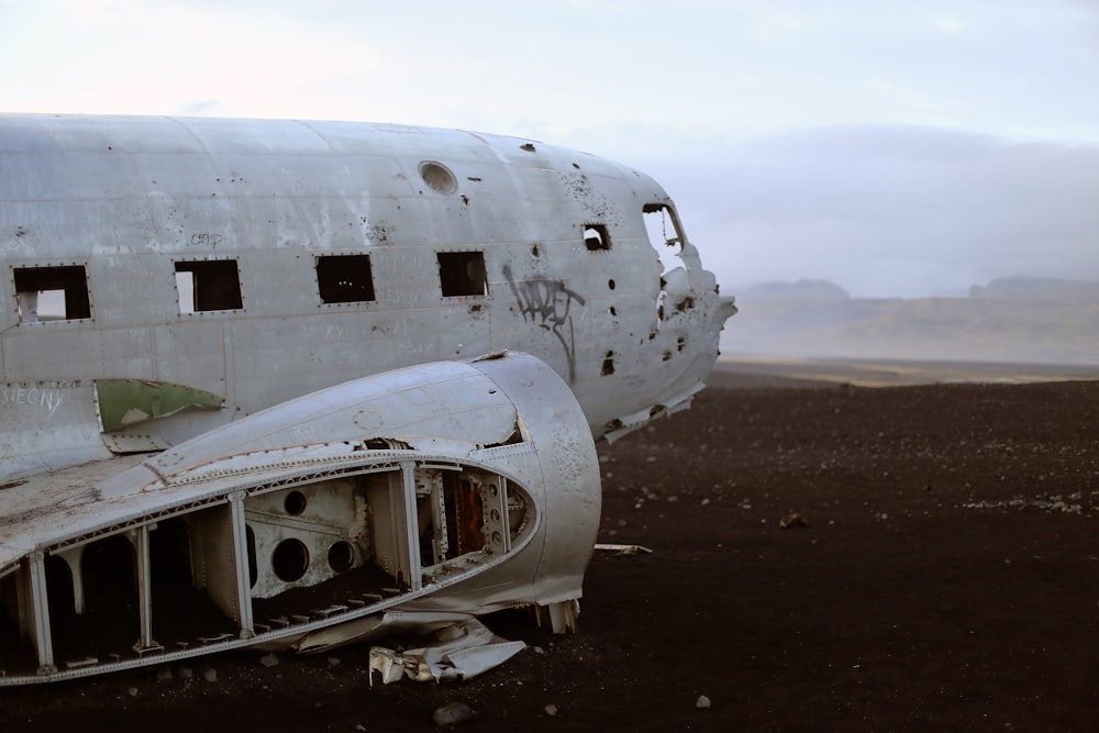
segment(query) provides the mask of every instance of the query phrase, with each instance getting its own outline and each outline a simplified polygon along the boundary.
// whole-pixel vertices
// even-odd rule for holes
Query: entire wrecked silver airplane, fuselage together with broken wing
[[[735,312],[657,181],[526,138],[0,114],[0,158],[4,685],[569,628],[591,440],[686,409]]]

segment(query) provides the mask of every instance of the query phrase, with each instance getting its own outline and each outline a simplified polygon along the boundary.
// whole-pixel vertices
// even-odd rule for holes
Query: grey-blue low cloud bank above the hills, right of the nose
[[[700,207],[689,236],[729,286],[795,279],[791,262],[865,297],[1099,273],[1099,147],[848,126],[717,159],[680,185]]]

